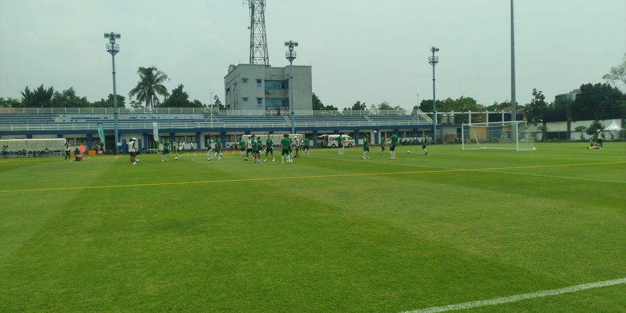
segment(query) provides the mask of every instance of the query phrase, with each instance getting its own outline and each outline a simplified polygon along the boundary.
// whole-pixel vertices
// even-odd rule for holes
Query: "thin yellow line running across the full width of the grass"
[[[381,175],[408,175],[408,174],[430,174],[442,172],[477,172],[489,170],[523,170],[529,168],[559,168],[572,166],[597,166],[597,165],[613,165],[626,164],[626,161],[602,162],[602,163],[575,163],[575,164],[554,164],[543,166],[508,166],[500,168],[458,168],[446,170],[415,170],[408,172],[367,172],[354,174],[335,174],[335,175],[307,175],[307,176],[287,176],[287,177],[262,177],[262,178],[242,178],[242,179],[222,179],[222,180],[203,180],[196,182],[166,182],[153,184],[125,184],[125,185],[106,185],[106,186],[80,186],[80,187],[59,187],[59,188],[40,188],[40,189],[15,189],[0,190],[0,193],[25,193],[38,191],[61,191],[61,190],[85,190],[85,189],[101,189],[101,188],[126,188],[126,187],[150,187],[150,186],[174,186],[174,185],[191,185],[191,184],[216,184],[228,182],[259,182],[284,179],[307,179],[307,178],[332,178],[332,177],[358,177],[358,176],[381,176]]]

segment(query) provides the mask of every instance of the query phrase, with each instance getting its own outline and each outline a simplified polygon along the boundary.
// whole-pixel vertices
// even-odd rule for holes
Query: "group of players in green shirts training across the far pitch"
[[[396,159],[396,146],[399,145],[399,137],[396,133],[392,134],[390,138],[385,141],[385,138],[380,141],[380,155],[385,156],[385,143],[390,142],[390,160]],[[339,134],[335,139],[337,141],[337,147],[339,147],[339,155],[344,154],[344,136],[343,134]],[[428,155],[428,150],[426,150],[426,146],[431,142],[431,138],[429,136],[424,137],[422,141],[422,151],[424,155]],[[302,150],[305,155],[309,155],[309,138],[304,138],[302,141],[298,139],[297,136],[294,138],[290,138],[288,134],[284,134],[283,138],[280,140],[280,147],[282,148],[280,154],[280,163],[293,163],[293,159],[300,157],[300,150]],[[371,143],[371,139],[365,136],[363,139],[363,157],[362,159],[369,159],[369,144]],[[168,161],[168,156],[170,155],[170,141],[166,139],[163,141],[163,155],[161,156],[161,161]],[[212,161],[214,159],[221,160],[222,159],[222,141],[219,137],[216,137],[215,140],[213,138],[207,139],[207,147],[209,151],[207,152],[207,161]],[[248,135],[248,140],[244,140],[244,136],[239,138],[239,147],[241,151],[241,158],[244,161],[248,161],[248,157],[252,155],[252,159],[254,164],[261,163],[261,152],[265,147],[265,159],[263,161],[267,161],[268,155],[271,155],[272,162],[276,161],[274,157],[274,141],[272,140],[270,135],[267,135],[265,143],[263,143],[263,139],[261,136],[256,135]],[[295,154],[292,154],[292,147],[294,147]]]

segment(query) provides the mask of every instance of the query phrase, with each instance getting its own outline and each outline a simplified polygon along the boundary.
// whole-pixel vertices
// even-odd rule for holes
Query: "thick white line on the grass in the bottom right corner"
[[[454,311],[454,310],[465,310],[465,309],[470,309],[472,307],[485,307],[488,305],[499,305],[502,303],[511,303],[515,301],[532,299],[532,298],[556,296],[559,294],[568,294],[570,292],[577,292],[577,291],[582,291],[586,289],[613,286],[616,284],[626,284],[626,278],[620,278],[617,280],[604,280],[602,282],[591,282],[589,284],[578,284],[576,286],[570,286],[570,287],[565,287],[561,289],[543,290],[543,291],[533,292],[531,294],[517,294],[515,296],[508,296],[504,298],[495,298],[495,299],[490,299],[490,300],[457,303],[454,305],[445,305],[442,307],[428,307],[426,309],[406,311],[403,313],[435,313],[435,312],[447,312],[447,311]]]

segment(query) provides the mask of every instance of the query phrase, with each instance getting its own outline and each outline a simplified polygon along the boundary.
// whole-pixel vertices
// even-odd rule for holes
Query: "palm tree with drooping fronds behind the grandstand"
[[[157,67],[139,67],[137,70],[139,81],[133,88],[129,97],[136,97],[138,102],[145,102],[146,108],[153,108],[154,103],[159,101],[157,95],[168,96],[168,88],[162,85],[168,79],[168,75],[157,70]]]

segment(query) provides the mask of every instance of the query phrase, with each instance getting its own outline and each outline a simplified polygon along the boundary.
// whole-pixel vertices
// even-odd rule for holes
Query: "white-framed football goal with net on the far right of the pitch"
[[[463,124],[461,139],[463,150],[536,150],[524,121]]]

